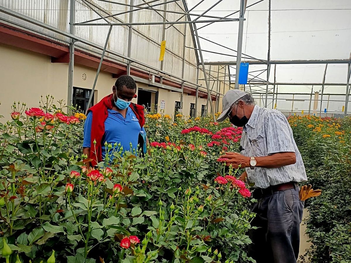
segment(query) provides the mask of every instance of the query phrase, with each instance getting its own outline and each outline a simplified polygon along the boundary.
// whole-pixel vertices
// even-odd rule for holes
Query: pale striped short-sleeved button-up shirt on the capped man
[[[287,182],[307,180],[306,170],[291,127],[278,110],[254,107],[249,122],[243,127],[241,154],[249,157],[268,156],[275,153],[294,152],[296,163],[279,168],[246,168],[249,182],[256,188],[267,188]]]

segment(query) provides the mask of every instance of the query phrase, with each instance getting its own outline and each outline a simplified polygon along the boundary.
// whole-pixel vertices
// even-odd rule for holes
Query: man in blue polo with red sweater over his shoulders
[[[112,144],[113,150],[131,151],[138,149],[139,135],[146,147],[144,108],[131,104],[137,85],[131,76],[120,76],[112,88],[112,94],[88,110],[84,123],[83,153],[88,156],[88,166],[95,166],[106,157],[105,142]],[[114,145],[119,149],[114,149]]]

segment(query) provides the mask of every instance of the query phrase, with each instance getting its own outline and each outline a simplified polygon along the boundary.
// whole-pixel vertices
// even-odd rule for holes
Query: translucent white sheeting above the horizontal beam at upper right
[[[187,0],[189,9],[200,0]],[[202,14],[216,0],[205,0],[192,13]],[[247,1],[250,6],[257,1]],[[207,15],[226,16],[240,8],[240,1],[223,0]],[[271,1],[271,60],[348,59],[351,40],[351,1],[349,0],[272,0]],[[230,16],[238,18],[239,12]],[[191,17],[195,19],[195,16]],[[200,18],[205,19],[205,18]],[[206,18],[208,19],[208,18]],[[243,30],[243,53],[267,59],[268,0],[248,7]],[[206,25],[206,24],[205,24]],[[237,49],[239,22],[218,22],[201,28],[199,36]],[[236,55],[201,39],[201,48]],[[206,53],[210,61],[235,61],[235,57]]]

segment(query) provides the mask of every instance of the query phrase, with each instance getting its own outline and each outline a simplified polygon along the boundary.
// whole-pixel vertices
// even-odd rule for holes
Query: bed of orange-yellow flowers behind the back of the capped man
[[[351,119],[289,118],[309,182],[322,195],[306,205],[308,262],[351,262]]]

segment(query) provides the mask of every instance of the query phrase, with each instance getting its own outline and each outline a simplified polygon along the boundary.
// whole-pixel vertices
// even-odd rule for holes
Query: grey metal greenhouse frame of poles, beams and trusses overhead
[[[11,9],[5,8],[0,6],[0,12],[5,13],[7,15],[13,16],[15,18],[18,18],[20,20],[29,22],[33,25],[39,26],[41,28],[45,28],[48,29],[49,31],[55,32],[57,34],[60,34],[62,36],[65,36],[67,38],[69,38],[69,74],[68,74],[68,103],[71,100],[70,98],[72,97],[72,91],[73,91],[73,65],[74,65],[74,48],[75,48],[75,42],[81,42],[84,43],[85,45],[91,46],[93,48],[96,48],[98,50],[100,50],[100,63],[99,63],[99,67],[97,69],[97,73],[95,76],[95,80],[94,80],[94,85],[92,87],[92,92],[90,95],[90,99],[89,99],[89,103],[88,105],[91,104],[91,100],[92,100],[92,94],[94,92],[95,89],[95,85],[97,83],[97,79],[100,73],[100,69],[101,69],[101,65],[102,62],[104,60],[105,57],[105,53],[108,52],[112,55],[115,55],[121,59],[124,59],[127,61],[127,74],[130,75],[130,70],[131,70],[131,64],[134,63],[134,65],[139,65],[139,66],[143,66],[143,67],[147,67],[150,70],[153,70],[155,73],[160,74],[160,85],[162,85],[162,78],[163,76],[170,76],[176,80],[181,81],[181,93],[183,96],[183,88],[184,88],[184,83],[188,83],[194,87],[196,87],[196,112],[197,112],[197,98],[198,98],[198,90],[199,87],[201,87],[201,85],[199,85],[199,69],[201,67],[201,70],[204,72],[204,79],[200,79],[200,80],[204,80],[206,83],[206,89],[207,89],[207,101],[211,100],[211,94],[215,93],[216,94],[216,98],[217,98],[217,109],[218,109],[218,98],[223,96],[224,94],[221,94],[218,91],[214,91],[213,90],[213,86],[212,86],[212,90],[210,90],[210,84],[209,81],[221,81],[220,78],[217,77],[211,77],[211,66],[221,66],[222,69],[225,68],[225,74],[224,77],[229,77],[229,83],[233,83],[234,84],[234,88],[238,89],[239,88],[239,83],[237,81],[231,81],[231,77],[236,77],[239,75],[239,69],[240,69],[240,63],[243,61],[242,59],[249,59],[247,60],[247,62],[250,63],[250,65],[266,65],[266,69],[263,70],[256,70],[253,72],[258,72],[257,75],[253,75],[250,73],[253,72],[249,72],[249,77],[250,79],[248,80],[248,85],[251,88],[251,85],[256,86],[256,87],[261,87],[261,86],[266,86],[265,88],[260,88],[261,91],[265,92],[265,103],[264,105],[267,107],[267,100],[268,100],[268,94],[272,93],[273,94],[273,102],[274,102],[274,94],[276,92],[275,87],[277,86],[277,95],[278,95],[278,86],[279,85],[321,85],[322,86],[322,97],[321,97],[321,105],[320,105],[320,112],[322,112],[322,102],[323,102],[323,92],[324,92],[324,86],[325,85],[329,85],[329,86],[346,86],[346,90],[345,90],[345,108],[344,108],[344,115],[347,115],[347,104],[349,102],[349,94],[350,94],[350,74],[351,74],[351,54],[350,54],[350,58],[349,59],[328,59],[328,60],[271,60],[271,0],[260,0],[257,1],[249,6],[247,5],[247,0],[239,0],[240,1],[240,10],[236,11],[234,13],[231,13],[229,15],[226,15],[224,17],[222,16],[214,16],[214,15],[208,15],[207,13],[209,11],[212,11],[220,2],[222,2],[223,0],[219,0],[217,2],[215,2],[212,6],[210,6],[209,8],[207,8],[205,11],[203,11],[201,14],[196,14],[196,13],[191,13],[194,9],[196,9],[196,7],[200,6],[201,3],[203,3],[205,0],[200,0],[196,5],[194,5],[191,9],[188,9],[187,7],[187,3],[185,0],[163,0],[163,1],[159,1],[159,0],[151,0],[151,1],[144,1],[144,3],[139,4],[139,5],[134,5],[134,0],[130,0],[130,4],[125,4],[125,3],[119,3],[119,2],[115,2],[115,1],[110,1],[110,0],[97,0],[97,1],[101,1],[101,2],[108,2],[108,3],[112,3],[112,4],[117,4],[117,5],[122,5],[122,6],[126,6],[129,7],[128,11],[124,11],[124,12],[119,12],[116,14],[112,14],[112,15],[108,15],[108,16],[103,16],[101,15],[100,12],[98,12],[98,10],[100,10],[101,12],[104,12],[104,10],[102,10],[101,8],[99,8],[99,6],[95,5],[94,2],[90,1],[90,0],[81,0],[82,2],[84,2],[86,4],[86,6],[88,6],[94,13],[98,14],[100,16],[100,18],[97,19],[92,19],[92,20],[88,20],[85,22],[79,22],[76,23],[75,22],[75,0],[71,0],[69,1],[69,32],[65,32],[63,30],[60,30],[58,28],[55,28],[53,26],[50,26],[46,23],[42,23],[38,20],[35,20],[33,18],[30,18],[29,16],[20,14],[18,12],[15,12]],[[178,4],[178,2],[182,2],[183,6],[184,6],[184,12],[178,12],[178,11],[172,11],[172,10],[167,10],[167,4],[173,3],[175,2],[181,9],[183,9],[183,7],[181,5]],[[268,8],[269,8],[269,13],[268,13],[268,49],[267,49],[267,59],[265,60],[261,60],[261,59],[257,59],[254,58],[253,56],[244,54],[242,52],[242,48],[243,48],[243,31],[244,31],[244,21],[246,20],[244,15],[245,15],[245,11],[246,8],[249,8],[251,6],[254,6],[262,1],[266,1],[268,2]],[[155,2],[157,2],[155,4]],[[161,9],[161,7],[163,7],[163,9]],[[157,12],[162,18],[163,21],[161,22],[138,22],[138,23],[133,23],[133,14],[137,11],[143,10],[143,9],[149,9],[149,10],[153,10],[155,12]],[[116,16],[118,15],[122,15],[122,14],[128,14],[129,15],[129,21],[128,22],[121,22],[121,23],[112,23],[111,21],[107,20],[108,18],[114,18],[117,19]],[[176,21],[168,21],[167,20],[167,13],[176,13],[176,14],[180,14],[180,18],[177,19]],[[231,18],[230,16],[239,13],[239,18]],[[191,19],[191,17],[195,17],[194,19]],[[182,18],[186,18],[185,21],[180,21]],[[200,19],[203,18],[203,19]],[[0,18],[2,21],[8,22],[8,23],[13,23],[9,20],[6,20],[4,18]],[[104,20],[105,23],[102,23],[101,20]],[[118,20],[118,19],[117,19]],[[216,41],[211,41],[208,39],[205,39],[201,36],[199,36],[198,34],[198,30],[201,28],[204,28],[206,26],[212,25],[213,23],[219,23],[219,22],[228,22],[228,21],[238,21],[239,22],[239,30],[238,30],[238,42],[237,42],[237,50],[234,50],[230,47],[227,47],[225,45],[221,45],[220,43],[216,42]],[[198,24],[202,24],[205,23],[204,26],[201,26],[200,28],[197,28]],[[161,61],[161,67],[160,68],[155,68],[152,67],[150,65],[147,65],[143,62],[137,61],[133,58],[131,58],[131,42],[132,42],[132,27],[135,25],[164,25],[163,27],[163,39],[164,39],[164,35],[165,35],[165,31],[167,28],[172,27],[176,24],[190,24],[190,28],[192,30],[192,37],[193,37],[193,42],[194,42],[194,47],[193,49],[196,50],[196,54],[197,54],[197,61],[198,61],[198,66],[197,66],[197,83],[193,83],[189,80],[186,80],[184,78],[184,64],[185,64],[185,51],[186,48],[192,48],[192,47],[188,47],[186,46],[185,43],[185,38],[186,38],[186,26],[184,27],[184,32],[180,32],[181,34],[184,35],[184,43],[183,43],[183,65],[181,68],[181,77],[176,76],[176,75],[172,75],[166,71],[164,71],[163,69],[163,61]],[[96,43],[87,41],[83,38],[80,38],[76,35],[74,35],[74,30],[75,30],[75,26],[107,26],[109,27],[109,31],[107,34],[107,38],[105,41],[105,45],[104,46],[100,46],[97,45]],[[166,27],[167,25],[167,27]],[[23,25],[19,25],[21,27],[24,27]],[[128,30],[128,43],[127,43],[127,55],[123,55],[120,54],[118,52],[115,52],[113,50],[110,50],[107,48],[107,44],[108,44],[108,40],[110,38],[111,35],[111,31],[112,31],[112,27],[114,26],[128,26],[129,30]],[[33,31],[33,29],[31,29]],[[178,29],[177,29],[178,30]],[[178,30],[179,31],[179,30]],[[200,39],[204,39],[207,40],[213,44],[215,44],[216,46],[220,46],[226,49],[229,49],[233,52],[236,52],[237,55],[227,55],[225,53],[220,53],[220,52],[214,52],[211,50],[204,50],[201,49],[200,46]],[[203,52],[208,52],[208,53],[213,53],[213,54],[220,54],[220,55],[226,55],[226,56],[232,56],[232,57],[236,57],[236,60],[233,61],[205,61],[204,60],[204,56],[203,56]],[[243,57],[244,56],[244,57]],[[347,76],[345,76],[346,78],[346,82],[345,83],[326,83],[325,79],[326,79],[326,71],[327,71],[327,66],[328,64],[347,64]],[[321,82],[306,82],[306,83],[296,83],[296,82],[276,82],[276,66],[280,65],[280,64],[325,64],[325,70],[324,70],[324,74],[323,76],[321,76]],[[134,66],[133,65],[133,66]],[[206,69],[205,67],[209,65],[210,66],[210,70]],[[236,70],[236,74],[230,74],[230,68],[231,66],[236,66],[234,69]],[[270,74],[271,74],[271,66],[274,65],[274,77],[273,77],[273,82],[270,81]],[[136,66],[137,67],[137,66]],[[209,72],[207,74],[207,72]],[[266,80],[262,79],[259,77],[259,75],[266,73]],[[269,85],[273,86],[273,92],[270,91],[269,89]],[[245,88],[245,87],[244,87]],[[313,91],[313,89],[312,89]],[[303,94],[307,94],[307,93],[303,93]],[[341,94],[340,94],[341,95]],[[277,100],[277,96],[276,96],[276,100]],[[312,92],[311,92],[311,101],[312,101]],[[310,101],[310,106],[311,106],[311,101]],[[183,98],[181,98],[181,104],[183,104]],[[212,105],[212,103],[209,103],[210,107],[211,107],[211,113],[212,116],[215,120],[215,109]],[[272,104],[273,105],[273,104]],[[273,106],[272,106],[273,107]],[[309,110],[310,112],[310,110]]]

